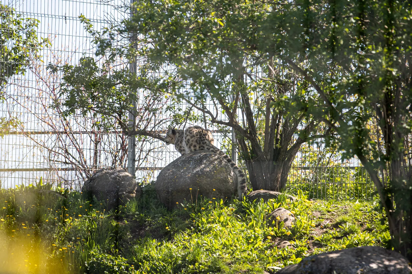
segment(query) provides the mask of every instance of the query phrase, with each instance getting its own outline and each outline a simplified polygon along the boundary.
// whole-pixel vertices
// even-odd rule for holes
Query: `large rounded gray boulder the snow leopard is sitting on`
[[[236,175],[218,154],[199,150],[187,153],[164,167],[157,176],[157,197],[168,208],[201,198],[229,198],[236,191]],[[192,188],[192,190],[190,190]]]

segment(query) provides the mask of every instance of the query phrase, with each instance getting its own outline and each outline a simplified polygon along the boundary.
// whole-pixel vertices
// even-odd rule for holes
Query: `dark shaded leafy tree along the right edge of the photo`
[[[307,113],[337,132],[344,158],[356,157],[366,168],[393,247],[409,260],[411,8],[391,0],[288,2],[267,22],[283,31],[280,41],[268,39],[264,45],[277,49],[274,55],[306,79],[310,94],[322,98],[316,108],[307,106]]]

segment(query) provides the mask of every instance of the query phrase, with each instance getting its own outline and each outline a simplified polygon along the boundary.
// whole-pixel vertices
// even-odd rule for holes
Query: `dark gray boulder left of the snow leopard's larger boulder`
[[[142,193],[133,176],[120,167],[98,170],[84,182],[82,191],[96,196],[97,200],[104,200],[108,203],[109,210],[140,197]]]

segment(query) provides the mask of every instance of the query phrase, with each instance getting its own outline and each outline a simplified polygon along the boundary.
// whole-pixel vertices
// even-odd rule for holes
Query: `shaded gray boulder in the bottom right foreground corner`
[[[405,257],[379,246],[342,249],[304,258],[276,274],[410,274]]]

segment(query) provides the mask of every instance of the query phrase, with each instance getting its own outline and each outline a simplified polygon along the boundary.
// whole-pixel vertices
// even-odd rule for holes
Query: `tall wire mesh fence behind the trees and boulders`
[[[2,1],[2,14],[14,19],[37,20],[36,35],[39,39],[47,38],[48,42],[32,51],[23,64],[27,65],[24,74],[7,77],[7,84],[2,87],[5,100],[0,107],[1,118],[5,121],[13,119],[16,123],[12,128],[3,125],[1,130],[4,134],[0,139],[1,187],[28,185],[42,178],[43,182],[79,189],[82,182],[98,169],[127,167],[130,139],[122,132],[102,132],[93,127],[97,118],[80,114],[64,117],[62,109],[50,107],[55,100],[62,100],[59,93],[62,79],[61,74],[47,70],[47,64],[75,65],[82,56],[94,57],[95,45],[79,16],[82,14],[90,19],[94,30],[100,31],[127,18],[128,6],[129,1],[122,0]],[[2,35],[8,34],[12,28],[2,24],[0,31]],[[24,36],[28,30],[17,31]],[[124,39],[118,42],[128,43]],[[0,46],[4,51],[9,45]],[[117,65],[125,67],[129,64],[119,59]],[[0,67],[6,66],[7,60],[0,60]],[[148,103],[155,104],[155,101],[151,102],[142,94],[136,107],[139,109]],[[156,107],[162,109],[169,103],[165,98],[156,101]],[[189,104],[182,104],[180,108],[182,114],[191,109],[194,115],[202,115]],[[148,113],[142,115],[136,123],[147,123],[148,116]],[[163,112],[157,122],[149,126],[155,127],[162,121],[162,127],[153,130],[165,134],[169,127],[168,118],[168,113]],[[232,132],[229,128],[206,126],[213,131],[215,145],[234,158],[236,153],[231,151]],[[159,140],[136,137],[133,142],[136,144],[136,153],[132,156],[134,169],[136,178],[142,183],[155,180],[164,166],[179,157],[172,146],[167,147]],[[358,161],[342,163],[340,151],[309,145],[303,145],[297,153],[287,188],[291,192],[300,189],[310,197],[323,199],[366,199],[372,197],[374,191],[373,183]]]

